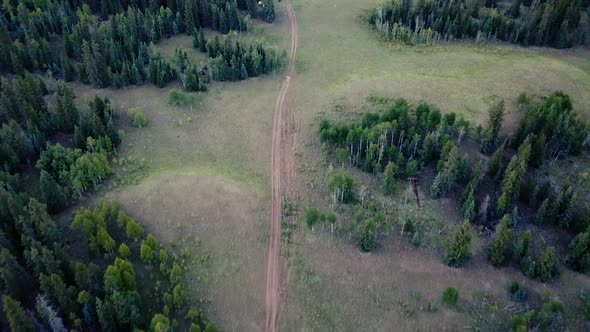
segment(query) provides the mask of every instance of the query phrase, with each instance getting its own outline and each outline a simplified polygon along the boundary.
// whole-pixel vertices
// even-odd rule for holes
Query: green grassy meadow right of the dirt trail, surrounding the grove
[[[560,89],[574,98],[580,111],[590,114],[590,55],[586,51],[470,44],[428,48],[387,45],[358,19],[362,10],[378,2],[295,1],[299,49],[293,85],[301,119],[298,181],[303,207],[313,202],[328,208],[324,189],[328,165],[322,162],[317,141],[318,119],[327,113],[330,117],[349,117],[354,111],[352,106],[362,104],[371,94],[405,97],[414,102],[426,100],[443,112],[459,112],[482,123],[482,115],[493,98],[504,98],[513,112],[514,100],[523,90],[544,95]],[[335,113],[336,104],[344,111]],[[379,192],[379,183],[359,172],[354,174]],[[404,190],[400,190],[403,195]],[[448,200],[426,199],[424,203],[426,214],[438,213],[439,221],[450,227],[460,222]],[[341,211],[339,217],[351,218],[352,214]],[[485,322],[487,328],[498,328],[498,318],[491,314],[490,305],[497,303],[502,308],[509,304],[504,287],[510,279],[525,280],[520,272],[492,268],[477,238],[473,246],[475,258],[462,270],[444,267],[436,250],[415,249],[408,242],[392,236],[378,252],[361,254],[345,235],[337,237],[318,229],[312,233],[301,226],[291,250],[294,255],[283,327],[390,330],[395,326],[433,330],[441,326],[464,329],[476,324],[485,329]],[[528,280],[526,284],[534,288],[533,301],[540,301],[545,285]],[[587,278],[566,272],[547,289],[577,306],[579,303],[571,299],[580,287],[589,284]],[[441,308],[440,296],[448,286],[460,289],[462,304],[458,312]],[[489,297],[481,297],[484,292]],[[423,311],[428,302],[439,310]],[[508,311],[499,315],[505,317]]]

